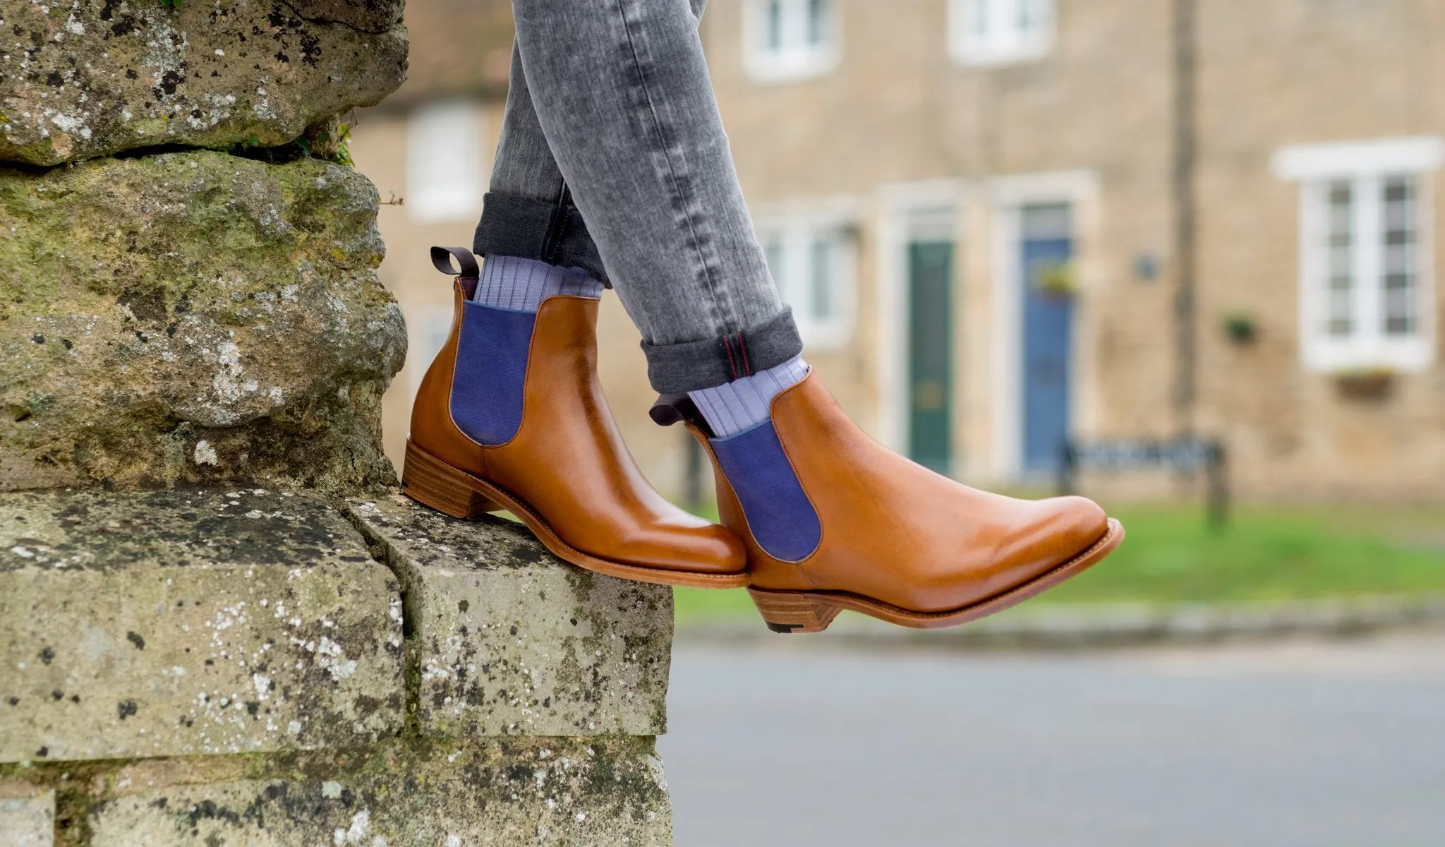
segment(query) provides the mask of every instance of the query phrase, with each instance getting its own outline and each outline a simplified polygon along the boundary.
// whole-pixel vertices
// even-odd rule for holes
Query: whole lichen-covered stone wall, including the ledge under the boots
[[[390,493],[393,0],[0,9],[0,844],[666,844],[668,588]]]

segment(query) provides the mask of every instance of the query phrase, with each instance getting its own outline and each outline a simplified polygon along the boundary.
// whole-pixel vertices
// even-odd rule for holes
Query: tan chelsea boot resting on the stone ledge
[[[455,314],[416,393],[402,491],[454,517],[512,512],[559,558],[600,574],[746,585],[743,543],[663,500],[627,452],[597,382],[598,301],[493,308],[468,299],[470,251],[434,247],[432,262],[458,276]]]

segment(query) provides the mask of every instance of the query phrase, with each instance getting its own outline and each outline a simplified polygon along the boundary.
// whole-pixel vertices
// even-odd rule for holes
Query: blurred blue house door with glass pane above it
[[[1058,470],[1069,434],[1069,351],[1074,292],[1069,207],[1025,207],[1023,263],[1023,473]]]

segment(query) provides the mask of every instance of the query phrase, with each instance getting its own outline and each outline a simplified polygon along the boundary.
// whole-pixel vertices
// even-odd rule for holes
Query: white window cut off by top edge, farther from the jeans
[[[1053,0],[949,0],[948,48],[967,65],[1038,59],[1053,46]]]

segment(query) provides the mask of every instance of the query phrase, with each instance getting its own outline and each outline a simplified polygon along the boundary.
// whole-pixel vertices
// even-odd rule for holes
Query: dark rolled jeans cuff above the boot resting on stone
[[[487,192],[471,244],[478,256],[519,256],[558,267],[581,267],[611,288],[587,223],[565,192],[561,201]]]

